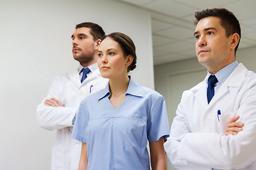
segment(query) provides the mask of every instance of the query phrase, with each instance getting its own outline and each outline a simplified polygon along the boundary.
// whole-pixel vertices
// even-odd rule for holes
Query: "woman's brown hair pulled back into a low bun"
[[[136,47],[132,39],[124,33],[111,33],[109,35],[106,35],[102,40],[104,40],[105,38],[112,38],[112,40],[118,42],[124,52],[124,55],[131,55],[134,58],[132,64],[130,64],[129,67],[127,68],[127,71],[129,72],[135,69],[137,63],[137,55]]]

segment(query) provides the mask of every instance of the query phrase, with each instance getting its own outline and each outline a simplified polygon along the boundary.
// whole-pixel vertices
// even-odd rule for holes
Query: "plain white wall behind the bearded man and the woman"
[[[154,88],[147,11],[110,0],[10,0],[0,2],[0,21],[1,169],[50,169],[55,132],[38,127],[36,106],[56,75],[78,67],[70,38],[76,24],[129,35],[138,57],[132,76]]]

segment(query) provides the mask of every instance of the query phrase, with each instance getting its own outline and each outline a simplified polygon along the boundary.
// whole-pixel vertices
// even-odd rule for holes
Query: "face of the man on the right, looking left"
[[[229,52],[232,36],[226,36],[225,29],[220,25],[220,18],[210,16],[201,19],[194,35],[198,61],[211,74],[231,63],[233,59],[230,58]]]

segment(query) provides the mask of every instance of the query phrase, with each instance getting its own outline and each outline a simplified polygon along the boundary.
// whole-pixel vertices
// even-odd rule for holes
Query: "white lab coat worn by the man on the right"
[[[207,79],[183,92],[164,144],[171,164],[183,170],[255,170],[256,74],[238,64],[209,105],[206,86]],[[245,126],[238,135],[226,136],[225,126],[234,115]]]

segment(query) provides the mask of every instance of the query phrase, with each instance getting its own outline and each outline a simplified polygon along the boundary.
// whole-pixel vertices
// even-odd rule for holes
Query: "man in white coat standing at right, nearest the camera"
[[[194,14],[196,55],[208,74],[183,92],[167,155],[176,169],[255,170],[256,74],[235,60],[240,24],[225,8]],[[225,133],[228,124],[233,135]]]

